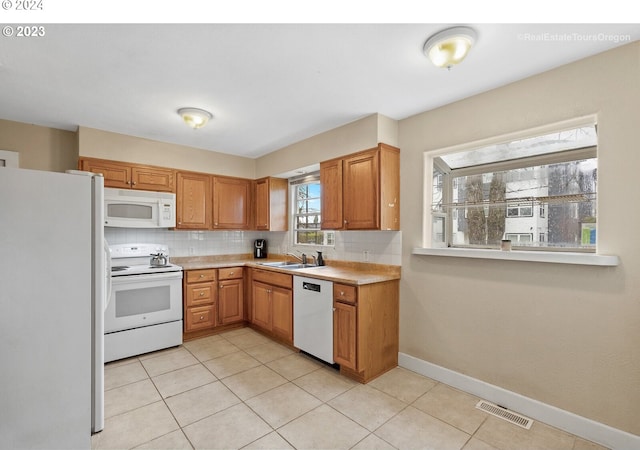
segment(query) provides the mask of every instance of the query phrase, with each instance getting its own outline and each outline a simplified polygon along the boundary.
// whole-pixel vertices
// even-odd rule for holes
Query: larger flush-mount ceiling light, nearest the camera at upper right
[[[451,69],[462,62],[475,41],[476,32],[469,27],[447,28],[427,39],[422,51],[437,67]]]

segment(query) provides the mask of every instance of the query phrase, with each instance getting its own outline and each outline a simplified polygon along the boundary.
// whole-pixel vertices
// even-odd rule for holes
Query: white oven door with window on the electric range
[[[182,272],[112,277],[104,331],[182,320]]]

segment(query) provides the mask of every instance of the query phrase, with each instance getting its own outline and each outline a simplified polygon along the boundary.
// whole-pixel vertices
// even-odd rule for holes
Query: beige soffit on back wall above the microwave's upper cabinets
[[[78,130],[80,156],[255,178],[255,160],[94,128]]]

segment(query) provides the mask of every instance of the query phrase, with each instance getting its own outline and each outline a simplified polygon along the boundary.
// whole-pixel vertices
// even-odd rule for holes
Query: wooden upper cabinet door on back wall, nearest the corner
[[[249,229],[251,182],[241,178],[213,178],[213,228]]]

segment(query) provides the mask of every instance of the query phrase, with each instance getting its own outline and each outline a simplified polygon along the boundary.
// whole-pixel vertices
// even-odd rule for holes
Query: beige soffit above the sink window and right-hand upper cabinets
[[[312,164],[366,150],[384,142],[397,145],[398,123],[372,114],[256,160],[257,177],[277,175]]]

